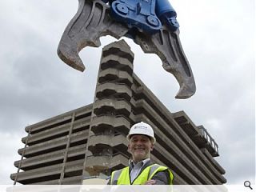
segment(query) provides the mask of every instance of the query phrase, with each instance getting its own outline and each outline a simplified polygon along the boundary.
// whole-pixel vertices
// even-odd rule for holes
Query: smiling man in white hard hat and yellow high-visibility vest
[[[138,122],[127,135],[128,151],[132,155],[130,166],[114,171],[110,185],[171,185],[174,175],[166,166],[150,161],[154,149],[154,131],[145,122]]]

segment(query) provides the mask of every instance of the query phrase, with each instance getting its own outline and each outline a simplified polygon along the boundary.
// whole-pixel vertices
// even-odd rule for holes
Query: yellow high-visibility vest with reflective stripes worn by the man
[[[156,174],[159,171],[162,170],[168,170],[170,174],[170,183],[169,185],[172,185],[172,181],[174,178],[174,175],[171,173],[171,171],[166,166],[159,166],[158,164],[154,164],[151,166],[147,166],[144,170],[142,170],[142,173],[138,175],[137,178],[134,179],[134,182],[130,182],[130,174],[129,174],[129,166],[126,166],[122,170],[114,171],[111,174],[111,184],[118,184],[118,185],[142,185],[146,181],[150,180],[154,177],[154,174]]]

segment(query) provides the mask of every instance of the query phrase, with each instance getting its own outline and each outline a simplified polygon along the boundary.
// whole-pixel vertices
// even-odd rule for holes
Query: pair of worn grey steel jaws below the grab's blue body
[[[100,46],[99,38],[105,35],[131,37],[129,26],[115,21],[110,15],[110,6],[101,0],[79,0],[78,12],[66,26],[59,42],[59,58],[74,69],[83,71],[85,66],[78,53],[84,47]],[[154,34],[138,31],[132,37],[145,53],[157,54],[161,58],[163,68],[173,74],[179,83],[180,89],[175,98],[183,99],[190,98],[196,86],[178,34],[179,30],[171,31],[162,26]]]

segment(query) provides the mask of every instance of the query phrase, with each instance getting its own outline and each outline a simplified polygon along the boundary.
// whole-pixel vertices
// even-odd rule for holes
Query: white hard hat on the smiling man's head
[[[154,130],[145,122],[138,122],[130,128],[129,134],[126,136],[128,141],[130,141],[130,137],[133,134],[145,134],[151,138],[153,143],[155,142]]]

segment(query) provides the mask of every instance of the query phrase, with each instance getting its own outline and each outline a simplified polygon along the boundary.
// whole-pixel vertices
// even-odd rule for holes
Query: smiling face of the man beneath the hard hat
[[[132,154],[134,162],[140,162],[146,158],[150,158],[150,151],[153,150],[154,145],[150,138],[142,134],[134,134],[130,138],[128,151]]]

